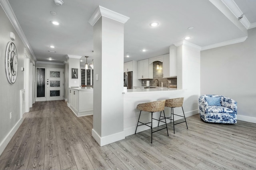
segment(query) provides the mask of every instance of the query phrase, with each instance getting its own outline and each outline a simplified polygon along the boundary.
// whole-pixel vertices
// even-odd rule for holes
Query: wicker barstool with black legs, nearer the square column
[[[151,143],[152,143],[152,133],[154,132],[157,132],[157,131],[160,131],[162,129],[166,129],[167,130],[167,135],[169,136],[168,134],[168,129],[167,129],[167,124],[166,124],[166,119],[165,119],[165,114],[163,119],[165,121],[161,121],[161,120],[158,120],[158,119],[155,119],[158,121],[158,125],[159,125],[159,121],[165,123],[166,127],[162,128],[162,129],[159,129],[157,131],[152,131],[152,120],[154,119],[153,118],[153,112],[157,112],[157,111],[163,111],[164,112],[164,105],[165,105],[165,100],[160,100],[160,101],[156,101],[156,102],[148,102],[148,103],[142,103],[142,104],[138,104],[137,105],[137,109],[140,110],[140,114],[141,114],[141,111],[148,111],[148,112],[151,112],[151,122],[148,122],[148,123],[151,123],[151,126],[147,125],[148,123],[142,123],[140,122],[140,115],[139,115],[139,119],[138,119],[138,123],[137,123],[137,127],[138,126],[141,126],[141,125],[146,125],[148,127],[151,128]],[[141,125],[139,125],[139,123],[142,123]],[[136,134],[136,131],[137,131],[137,127],[136,127],[136,130],[135,130],[135,134]]]

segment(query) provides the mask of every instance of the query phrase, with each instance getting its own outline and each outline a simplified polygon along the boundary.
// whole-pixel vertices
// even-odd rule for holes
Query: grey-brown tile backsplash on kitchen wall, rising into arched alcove
[[[156,69],[156,64],[159,63],[160,70]],[[142,86],[146,86],[146,81],[148,80],[150,83],[150,86],[156,86],[157,80],[154,82],[155,79],[158,79],[159,87],[161,86],[161,82],[163,82],[163,86],[167,87],[168,83],[165,82],[166,80],[171,80],[170,85],[177,85],[177,78],[163,78],[163,63],[160,61],[155,61],[153,63],[153,79],[143,79],[141,82]]]

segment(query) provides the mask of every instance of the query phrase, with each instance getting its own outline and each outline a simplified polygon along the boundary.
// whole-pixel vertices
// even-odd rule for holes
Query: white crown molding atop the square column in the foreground
[[[94,13],[92,14],[88,22],[93,26],[100,19],[101,16],[110,18],[112,20],[115,20],[121,23],[126,23],[126,21],[130,19],[127,16],[124,16],[122,14],[109,10],[102,6],[98,6],[98,8],[94,11]]]

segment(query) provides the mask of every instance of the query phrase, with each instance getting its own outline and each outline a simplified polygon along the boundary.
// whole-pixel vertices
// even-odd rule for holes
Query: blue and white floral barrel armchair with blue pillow
[[[199,96],[201,119],[214,123],[236,123],[237,102],[225,96]]]

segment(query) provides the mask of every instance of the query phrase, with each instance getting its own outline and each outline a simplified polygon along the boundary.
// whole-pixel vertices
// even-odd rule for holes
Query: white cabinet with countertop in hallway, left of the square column
[[[69,101],[67,106],[76,116],[93,114],[93,88],[92,87],[70,87]]]

